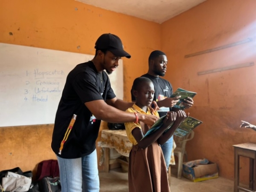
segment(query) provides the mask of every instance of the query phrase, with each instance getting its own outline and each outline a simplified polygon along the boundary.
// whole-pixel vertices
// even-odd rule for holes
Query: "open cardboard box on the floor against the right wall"
[[[199,161],[196,160],[195,162]],[[214,162],[208,162],[207,164],[194,163],[194,165],[190,162],[192,166],[186,163],[184,162],[182,165],[183,176],[191,181],[198,182],[218,178],[218,165]]]

